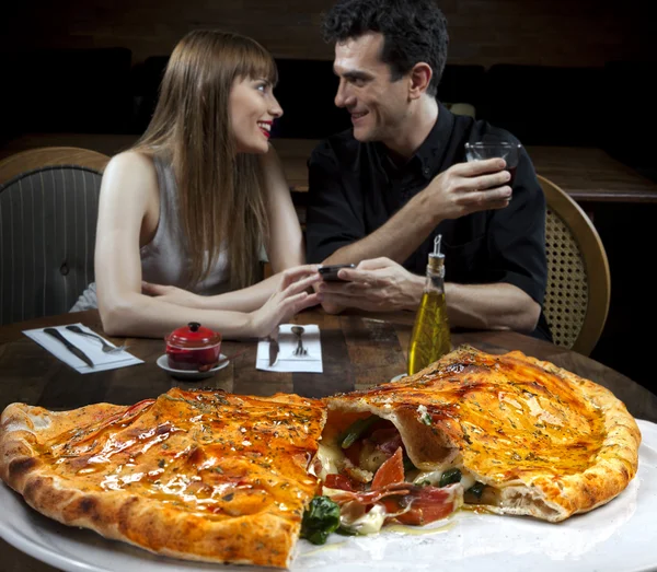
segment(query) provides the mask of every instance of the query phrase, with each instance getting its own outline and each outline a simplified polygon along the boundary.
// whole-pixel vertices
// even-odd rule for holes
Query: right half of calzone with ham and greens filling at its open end
[[[637,469],[641,433],[625,406],[521,352],[461,347],[326,404],[313,470],[355,534],[462,505],[558,522],[609,502]]]

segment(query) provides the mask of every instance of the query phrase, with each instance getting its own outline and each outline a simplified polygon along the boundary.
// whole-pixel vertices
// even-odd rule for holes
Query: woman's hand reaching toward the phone
[[[322,295],[309,294],[307,290],[320,280],[314,265],[298,266],[283,272],[280,284],[269,300],[251,313],[254,336],[264,338],[298,312],[319,304]]]

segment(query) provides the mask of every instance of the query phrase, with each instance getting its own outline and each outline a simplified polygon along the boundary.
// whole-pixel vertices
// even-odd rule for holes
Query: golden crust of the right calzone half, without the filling
[[[450,458],[493,487],[498,514],[550,522],[590,511],[636,475],[641,432],[611,392],[519,351],[461,347],[417,374],[326,398],[324,437],[373,413],[430,470]],[[426,417],[428,416],[428,417]]]

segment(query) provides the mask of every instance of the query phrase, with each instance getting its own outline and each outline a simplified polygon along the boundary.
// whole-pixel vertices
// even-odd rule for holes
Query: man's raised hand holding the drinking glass
[[[511,200],[511,178],[504,159],[457,163],[436,176],[420,192],[438,221],[472,212],[504,209]]]

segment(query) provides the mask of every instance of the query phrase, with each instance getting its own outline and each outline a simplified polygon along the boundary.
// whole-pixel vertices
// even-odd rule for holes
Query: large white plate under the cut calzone
[[[465,511],[436,523],[430,534],[387,530],[332,535],[316,547],[300,540],[292,571],[372,572],[644,572],[657,569],[657,425],[643,433],[638,475],[623,493],[561,524]],[[20,550],[69,572],[258,571],[157,557],[91,530],[69,528],[33,511],[0,485],[0,535]]]

